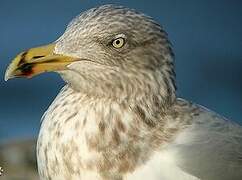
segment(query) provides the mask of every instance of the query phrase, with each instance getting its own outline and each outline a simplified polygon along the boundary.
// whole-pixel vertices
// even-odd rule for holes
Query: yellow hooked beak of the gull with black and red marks
[[[15,77],[31,78],[43,72],[60,71],[77,60],[54,53],[55,44],[31,48],[17,55],[8,66],[5,81]]]

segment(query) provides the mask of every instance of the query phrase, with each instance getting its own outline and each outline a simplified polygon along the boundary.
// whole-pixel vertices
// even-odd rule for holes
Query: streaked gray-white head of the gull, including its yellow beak
[[[90,95],[175,97],[166,32],[151,17],[122,6],[103,5],[81,13],[55,42],[17,55],[5,79],[51,71]]]

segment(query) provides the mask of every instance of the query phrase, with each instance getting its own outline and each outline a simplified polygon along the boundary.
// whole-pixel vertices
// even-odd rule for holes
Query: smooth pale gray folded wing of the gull
[[[178,166],[204,180],[242,180],[241,126],[197,107],[199,115],[170,146]]]

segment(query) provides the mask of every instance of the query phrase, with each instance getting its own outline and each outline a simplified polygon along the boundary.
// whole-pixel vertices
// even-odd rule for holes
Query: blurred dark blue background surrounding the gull
[[[1,0],[0,166],[6,169],[1,178],[35,178],[32,139],[64,85],[55,73],[4,82],[11,59],[56,40],[73,17],[107,3],[135,8],[163,25],[176,55],[180,97],[242,124],[242,1]]]

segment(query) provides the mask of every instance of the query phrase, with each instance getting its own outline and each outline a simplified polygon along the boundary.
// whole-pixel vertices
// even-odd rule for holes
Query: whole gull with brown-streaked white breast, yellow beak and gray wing
[[[17,55],[5,80],[53,71],[66,85],[42,117],[41,180],[242,179],[241,126],[176,96],[171,43],[153,18],[87,10]]]

